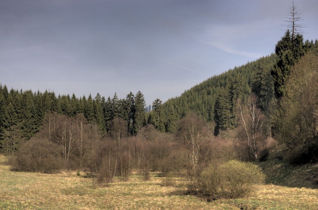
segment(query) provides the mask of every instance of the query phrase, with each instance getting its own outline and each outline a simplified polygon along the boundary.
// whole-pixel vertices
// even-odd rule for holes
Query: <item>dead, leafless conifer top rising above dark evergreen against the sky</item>
[[[302,19],[301,17],[301,12],[297,10],[297,6],[295,6],[294,1],[293,1],[293,5],[290,7],[290,12],[288,16],[289,17],[285,17],[287,18],[285,22],[288,23],[285,26],[287,26],[287,28],[292,31],[292,38],[295,39],[295,34],[304,34],[304,31],[302,30],[302,28],[306,28],[307,26],[305,24],[298,23],[299,21],[302,21],[304,19]]]

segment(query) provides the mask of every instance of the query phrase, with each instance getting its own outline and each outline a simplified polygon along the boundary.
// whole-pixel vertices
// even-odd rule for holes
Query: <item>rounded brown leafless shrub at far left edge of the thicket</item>
[[[12,161],[16,171],[54,173],[64,166],[59,148],[45,138],[31,138],[17,151]]]

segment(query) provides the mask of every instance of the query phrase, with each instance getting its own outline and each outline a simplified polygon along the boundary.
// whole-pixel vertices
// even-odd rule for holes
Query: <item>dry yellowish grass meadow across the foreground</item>
[[[0,156],[0,209],[317,209],[318,190],[275,185],[259,186],[252,197],[206,202],[178,195],[175,187],[161,186],[162,178],[151,173],[142,182],[134,173],[127,183],[100,187],[86,173],[58,174],[10,171]]]

